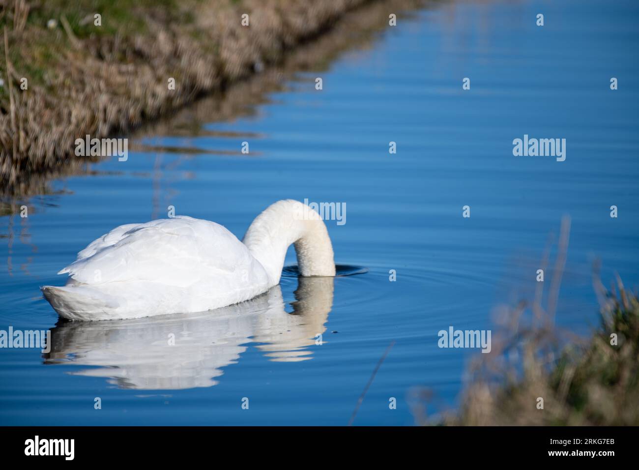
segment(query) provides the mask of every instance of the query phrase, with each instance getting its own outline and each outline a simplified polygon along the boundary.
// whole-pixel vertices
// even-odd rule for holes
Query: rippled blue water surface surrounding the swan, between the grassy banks
[[[238,118],[143,130],[126,162],[51,182],[27,218],[0,218],[0,329],[53,328],[50,354],[0,349],[0,424],[345,425],[394,341],[354,422],[410,425],[413,389],[433,391],[429,413],[454,407],[479,354],[438,348],[438,331],[491,329],[498,306],[530,299],[563,215],[557,322],[587,334],[594,260],[604,283],[639,283],[638,20],[632,1],[437,3]],[[566,161],[514,157],[524,134],[565,138]],[[336,261],[368,272],[289,273],[242,306],[100,324],[58,322],[38,289],[63,284],[91,240],[169,205],[241,238],[282,198],[345,203],[346,223],[327,221]]]

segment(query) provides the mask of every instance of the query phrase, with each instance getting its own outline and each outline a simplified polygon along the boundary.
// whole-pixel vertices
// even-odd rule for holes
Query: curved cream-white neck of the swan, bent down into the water
[[[319,214],[298,201],[277,201],[250,224],[244,239],[250,253],[279,283],[286,250],[295,244],[302,276],[335,276],[333,247]]]

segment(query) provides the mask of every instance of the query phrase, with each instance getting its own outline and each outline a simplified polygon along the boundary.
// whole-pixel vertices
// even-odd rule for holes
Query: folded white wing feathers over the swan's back
[[[252,269],[247,247],[213,222],[179,216],[125,227],[105,235],[104,241],[95,240],[61,272],[89,285],[155,281],[189,286],[202,279],[219,279],[220,274],[242,277],[243,271]]]

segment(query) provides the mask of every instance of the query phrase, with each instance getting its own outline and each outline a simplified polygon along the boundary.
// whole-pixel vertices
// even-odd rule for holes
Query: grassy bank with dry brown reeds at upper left
[[[364,3],[4,0],[0,184],[64,168],[78,137],[128,133],[279,64]]]

